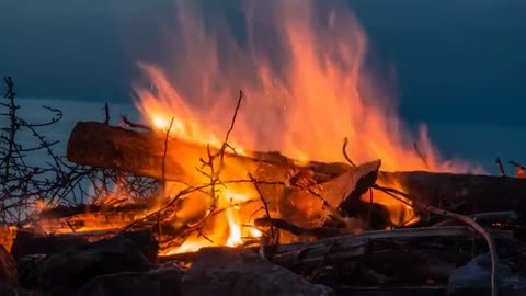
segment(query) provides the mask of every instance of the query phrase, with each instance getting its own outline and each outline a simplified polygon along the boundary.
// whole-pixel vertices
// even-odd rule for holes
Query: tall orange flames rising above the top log
[[[206,24],[190,2],[179,4],[178,66],[139,65],[155,87],[136,88],[137,107],[152,126],[167,130],[173,117],[173,135],[219,146],[237,89],[243,89],[247,100],[231,138],[243,149],[279,150],[300,161],[344,161],[340,147],[347,137],[355,161],[381,159],[384,170],[473,169],[442,160],[425,127],[419,137],[425,163],[415,153],[391,96],[365,67],[367,38],[351,11],[327,12],[306,0],[251,2],[243,43],[226,22]],[[224,203],[241,196],[237,190],[222,192]],[[401,215],[392,201],[381,203],[391,215]],[[222,243],[237,246],[240,216],[235,208],[225,213],[228,235]],[[207,244],[191,239],[175,252]]]

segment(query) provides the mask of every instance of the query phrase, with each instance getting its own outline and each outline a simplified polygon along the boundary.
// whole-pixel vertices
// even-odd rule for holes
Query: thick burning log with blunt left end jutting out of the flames
[[[215,148],[210,150],[217,151]],[[115,169],[156,179],[162,179],[164,161],[164,179],[186,183],[195,181],[192,178],[195,170],[193,167],[188,170],[188,164],[198,164],[199,159],[206,155],[206,146],[171,138],[168,141],[168,157],[164,158],[163,137],[95,122],[77,123],[67,147],[68,159],[78,164]],[[283,182],[290,169],[299,168],[295,164],[297,161],[277,152],[255,152],[250,157],[226,152],[225,162],[236,171],[244,168],[258,180],[265,182]],[[312,162],[309,167],[317,172],[317,181],[328,180],[348,168],[346,164],[322,162]],[[226,171],[230,172],[228,168]],[[225,174],[230,175],[228,172]]]

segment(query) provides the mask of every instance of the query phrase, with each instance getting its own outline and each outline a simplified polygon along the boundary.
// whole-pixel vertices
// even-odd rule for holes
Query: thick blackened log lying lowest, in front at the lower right
[[[511,231],[491,232],[503,253],[517,248]],[[467,227],[407,228],[265,247],[263,253],[274,264],[329,286],[447,285],[458,266],[487,252],[483,243],[473,249],[473,240],[481,237]],[[196,253],[160,260],[192,263]]]

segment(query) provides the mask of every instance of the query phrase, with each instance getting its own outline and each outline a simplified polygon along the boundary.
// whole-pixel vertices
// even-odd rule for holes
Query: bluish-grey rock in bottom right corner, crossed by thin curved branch
[[[500,295],[526,295],[526,278],[504,264],[496,267]],[[455,270],[447,285],[448,295],[490,295],[491,257],[476,257],[468,264]]]

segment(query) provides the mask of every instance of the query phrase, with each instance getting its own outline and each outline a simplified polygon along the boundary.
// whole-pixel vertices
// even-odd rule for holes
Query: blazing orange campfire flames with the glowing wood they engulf
[[[277,36],[289,61],[286,75],[273,71],[264,54],[252,57],[235,46],[228,54],[253,67],[253,75],[243,72],[247,78],[240,79],[243,67],[217,68],[220,57],[214,52],[213,37],[207,37],[202,23],[181,15],[183,45],[188,48],[185,60],[192,64],[182,67],[195,69],[188,73],[194,80],[192,89],[178,88],[160,66],[141,64],[150,83],[136,88],[136,104],[147,124],[125,118],[125,129],[135,130],[133,134],[85,123],[71,134],[70,161],[161,180],[156,202],[132,218],[137,221],[135,226],[148,217],[150,224],[159,219],[158,224],[169,228],[159,229],[167,236],[160,239],[161,254],[275,240],[268,238],[268,221],[265,227],[258,225],[262,218],[283,219],[304,228],[344,224],[342,231],[350,234],[410,226],[420,215],[411,202],[382,192],[354,196],[356,201],[347,201],[353,203],[348,208],[339,209],[355,182],[380,166],[357,163],[380,159],[381,168],[388,171],[467,170],[441,161],[425,129],[414,144],[404,141],[405,132],[389,102],[374,98],[376,93],[370,90],[359,90],[373,86],[374,77],[363,69],[366,37],[352,14],[331,11],[327,19],[313,21],[308,16],[315,15],[308,4],[300,5],[306,18],[294,16],[295,8],[287,4],[277,7],[283,19],[272,25],[286,32]],[[259,20],[254,18],[255,25]],[[310,30],[318,26],[324,30]],[[342,32],[342,26],[351,34]],[[202,35],[205,37],[196,37]],[[209,60],[196,62],[202,57]],[[228,86],[228,80],[243,86],[238,101],[228,88],[217,86]],[[367,92],[371,92],[370,98],[365,96]],[[192,94],[195,96],[186,96]],[[264,150],[279,152],[254,152]],[[377,183],[403,191],[396,178],[380,178]],[[384,217],[367,217],[373,210],[368,204]],[[41,225],[46,232],[56,234],[115,229],[130,223],[105,223],[96,215],[84,214],[75,223],[69,218],[68,223]],[[173,231],[183,231],[184,239],[179,239],[181,234],[170,236]],[[279,236],[282,243],[298,239]]]

